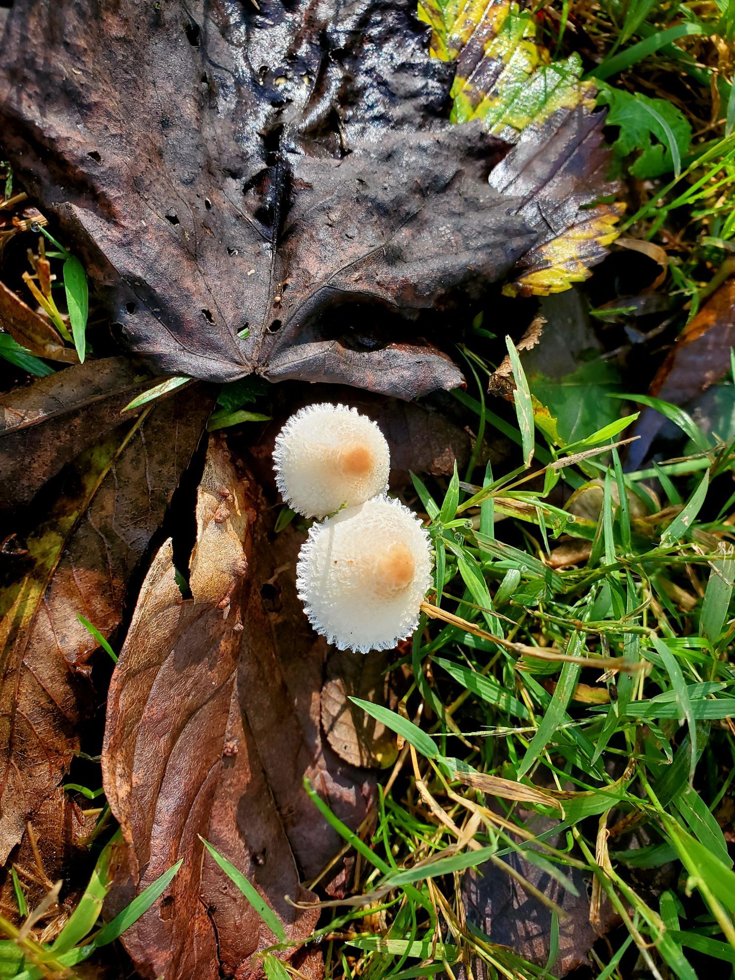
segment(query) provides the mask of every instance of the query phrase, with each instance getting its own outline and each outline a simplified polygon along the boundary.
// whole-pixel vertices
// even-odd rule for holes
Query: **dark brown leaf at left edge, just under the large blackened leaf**
[[[105,358],[0,398],[0,509],[27,504],[63,466],[123,423],[123,408],[148,382],[126,358]]]

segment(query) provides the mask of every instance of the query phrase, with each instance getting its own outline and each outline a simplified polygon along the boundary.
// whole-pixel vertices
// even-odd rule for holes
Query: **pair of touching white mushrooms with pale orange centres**
[[[417,516],[385,496],[390,452],[368,417],[310,405],[275,440],[278,489],[312,525],[299,554],[299,598],[340,650],[390,650],[414,632],[431,584],[429,538]],[[341,509],[341,510],[340,510]]]

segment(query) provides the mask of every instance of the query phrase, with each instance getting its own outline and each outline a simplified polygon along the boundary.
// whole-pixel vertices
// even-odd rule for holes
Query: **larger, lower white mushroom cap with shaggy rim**
[[[431,585],[429,536],[387,497],[314,524],[299,554],[299,598],[309,621],[340,650],[391,650],[417,627]]]

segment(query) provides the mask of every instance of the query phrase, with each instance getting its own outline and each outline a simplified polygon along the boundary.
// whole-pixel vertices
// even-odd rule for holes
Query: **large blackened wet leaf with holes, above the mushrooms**
[[[454,66],[430,57],[415,0],[19,0],[7,24],[6,152],[159,371],[452,388],[461,373],[419,315],[476,299],[523,256],[528,288],[560,262],[538,288],[564,288],[612,237],[614,209],[579,211],[608,188],[578,67],[534,74],[525,115],[493,89],[502,120],[453,124]],[[507,116],[527,129],[499,164]]]

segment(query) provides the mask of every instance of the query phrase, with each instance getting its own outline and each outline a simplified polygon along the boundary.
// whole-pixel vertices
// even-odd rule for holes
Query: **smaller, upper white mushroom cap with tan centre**
[[[309,405],[278,433],[273,468],[283,500],[305,517],[385,493],[390,452],[380,429],[346,405]]]

